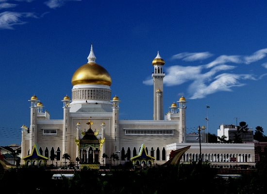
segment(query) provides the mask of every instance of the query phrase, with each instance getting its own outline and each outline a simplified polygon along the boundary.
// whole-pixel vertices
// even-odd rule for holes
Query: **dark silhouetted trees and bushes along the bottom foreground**
[[[242,178],[217,177],[208,164],[181,164],[141,171],[121,169],[101,176],[99,171],[83,169],[72,179],[52,180],[44,168],[14,168],[0,175],[2,188],[9,194],[266,194],[267,158],[257,170]]]

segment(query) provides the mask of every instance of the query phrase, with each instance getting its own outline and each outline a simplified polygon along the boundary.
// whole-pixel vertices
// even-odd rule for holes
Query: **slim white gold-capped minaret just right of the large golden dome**
[[[119,125],[118,125],[118,113],[119,113],[119,98],[117,96],[113,97],[112,99],[112,127],[111,127],[111,138],[114,140],[114,144],[110,146],[110,153],[116,153],[119,151]],[[120,158],[120,157],[119,157]]]

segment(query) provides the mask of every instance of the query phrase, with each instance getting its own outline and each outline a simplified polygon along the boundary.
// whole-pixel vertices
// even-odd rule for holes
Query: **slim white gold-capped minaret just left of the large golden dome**
[[[63,154],[69,152],[69,147],[70,147],[70,126],[69,126],[69,103],[70,103],[70,98],[68,96],[65,96],[63,100],[63,129],[62,129],[62,147],[63,147]]]

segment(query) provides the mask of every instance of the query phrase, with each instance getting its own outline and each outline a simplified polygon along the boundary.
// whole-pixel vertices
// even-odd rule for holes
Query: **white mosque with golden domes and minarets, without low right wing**
[[[87,59],[72,76],[71,100],[68,96],[62,100],[63,120],[50,120],[50,113],[43,111],[35,95],[29,100],[31,125],[21,127],[21,158],[30,155],[36,143],[40,155],[50,160],[62,160],[62,155],[68,153],[71,162],[78,157],[81,162],[92,163],[102,161],[103,153],[108,157],[117,153],[118,162],[124,163],[137,156],[144,144],[155,163],[164,163],[168,144],[186,143],[185,98],[177,101],[178,106],[173,103],[167,114],[163,112],[165,62],[159,53],[151,67],[153,120],[119,120],[121,101],[118,96],[112,98],[110,74],[96,63],[92,45]],[[112,163],[110,158],[104,160]]]

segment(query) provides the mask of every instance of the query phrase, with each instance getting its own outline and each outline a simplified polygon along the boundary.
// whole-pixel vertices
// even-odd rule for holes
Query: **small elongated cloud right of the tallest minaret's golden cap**
[[[197,60],[204,60],[206,58],[211,57],[213,54],[209,52],[203,52],[203,53],[179,53],[173,55],[171,58],[172,59],[182,59],[184,61],[197,61]]]

